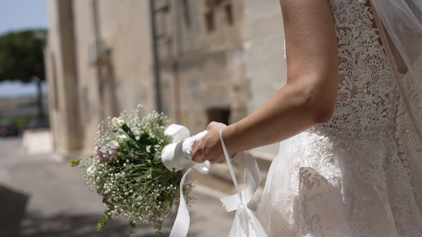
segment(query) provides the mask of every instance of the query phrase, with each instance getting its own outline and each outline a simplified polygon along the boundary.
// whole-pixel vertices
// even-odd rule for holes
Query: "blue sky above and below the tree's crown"
[[[0,35],[28,28],[48,28],[47,0],[0,0]],[[46,91],[46,85],[43,90]],[[35,94],[33,83],[0,83],[0,97]]]

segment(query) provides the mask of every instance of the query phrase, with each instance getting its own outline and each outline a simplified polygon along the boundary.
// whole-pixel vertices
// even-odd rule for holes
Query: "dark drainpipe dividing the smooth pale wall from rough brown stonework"
[[[157,112],[161,113],[163,109],[162,109],[162,103],[161,103],[160,65],[158,62],[154,0],[149,0],[149,10],[150,10],[150,16],[151,16],[152,57],[154,60],[155,103],[156,103]]]

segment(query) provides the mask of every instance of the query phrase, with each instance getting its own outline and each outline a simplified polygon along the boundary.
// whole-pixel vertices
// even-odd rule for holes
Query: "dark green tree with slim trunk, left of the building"
[[[40,117],[44,117],[41,81],[46,79],[43,52],[46,35],[46,30],[25,30],[0,36],[0,82],[37,82]]]

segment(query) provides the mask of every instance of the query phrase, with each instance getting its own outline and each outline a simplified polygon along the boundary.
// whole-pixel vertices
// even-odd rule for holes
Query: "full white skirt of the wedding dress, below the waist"
[[[314,127],[283,141],[256,210],[268,236],[422,236],[422,147],[390,134]]]

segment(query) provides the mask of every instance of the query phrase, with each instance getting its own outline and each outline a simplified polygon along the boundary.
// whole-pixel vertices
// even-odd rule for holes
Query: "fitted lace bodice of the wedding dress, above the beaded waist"
[[[371,8],[365,0],[330,0],[339,56],[337,103],[322,126],[385,131],[394,126],[398,94]]]

